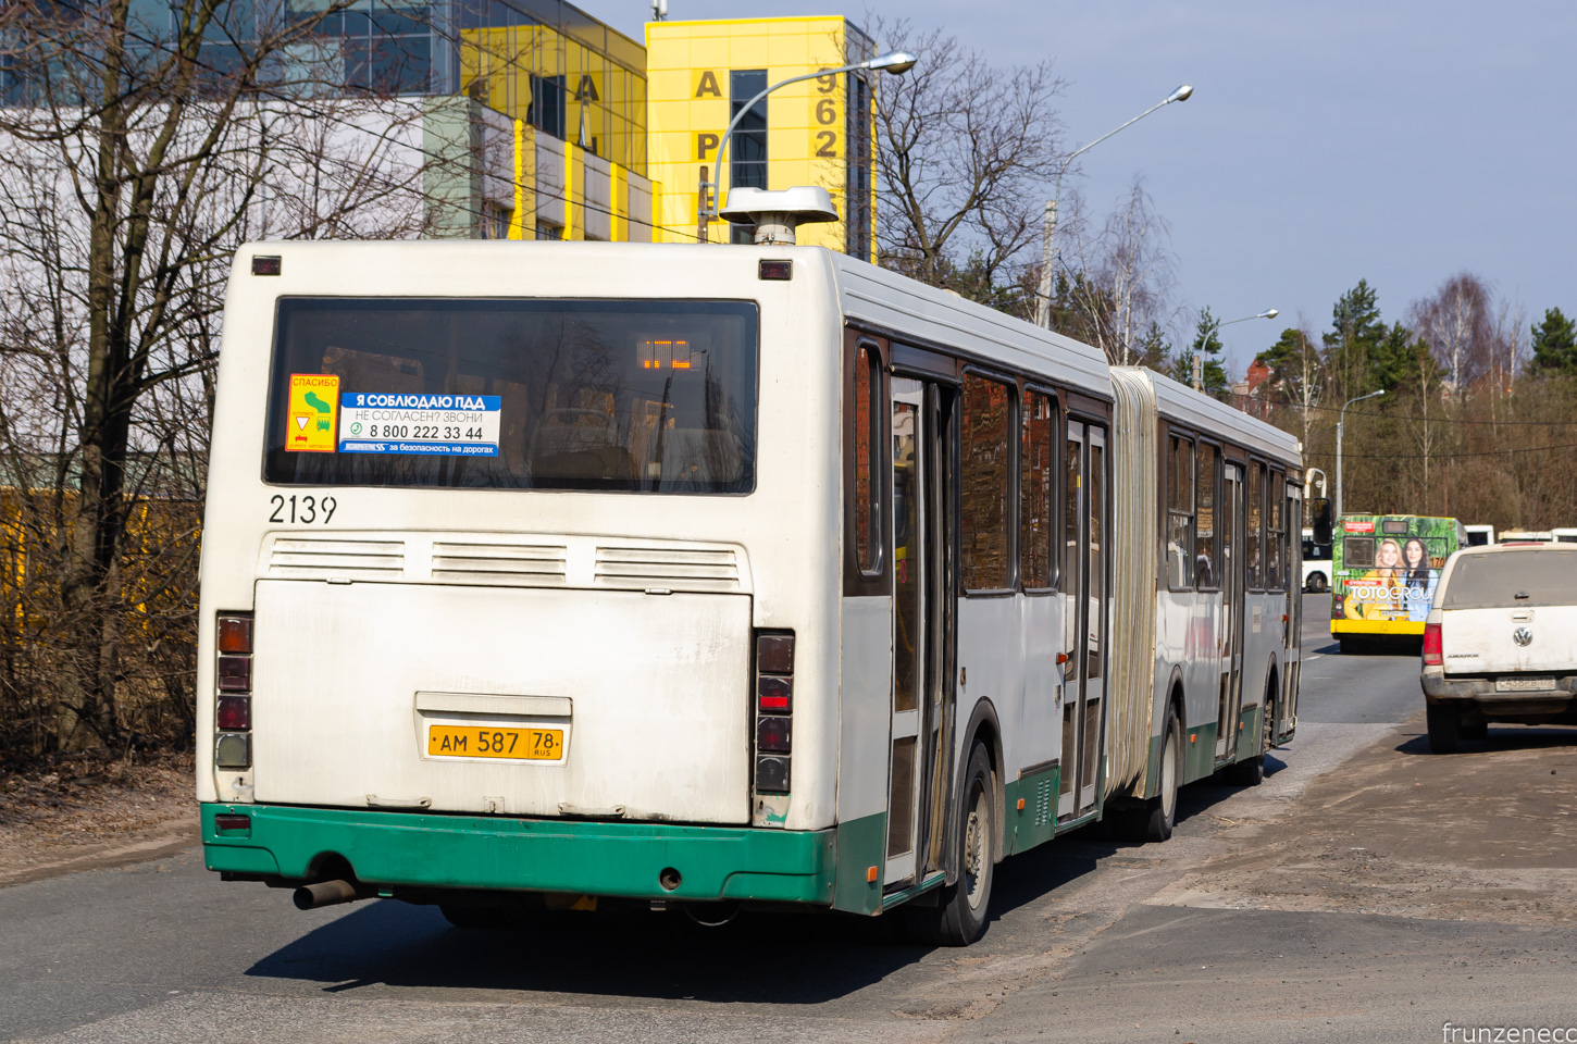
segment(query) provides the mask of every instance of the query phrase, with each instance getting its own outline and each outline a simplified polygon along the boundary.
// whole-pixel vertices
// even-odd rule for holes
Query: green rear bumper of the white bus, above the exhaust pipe
[[[214,818],[248,817],[219,830]],[[237,820],[229,820],[237,822]],[[210,871],[296,883],[333,856],[377,888],[552,891],[631,899],[828,905],[834,830],[784,831],[673,823],[591,823],[203,804]],[[664,888],[659,875],[678,885]]]

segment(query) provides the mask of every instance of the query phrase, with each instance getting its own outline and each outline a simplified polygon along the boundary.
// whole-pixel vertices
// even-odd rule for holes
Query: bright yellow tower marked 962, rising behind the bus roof
[[[844,17],[771,17],[647,24],[647,173],[658,183],[656,237],[700,238],[702,167],[727,202],[730,186],[825,188],[839,221],[803,226],[800,241],[874,260],[874,73],[847,73],[774,91],[735,129],[718,173],[729,121],[779,80],[874,57],[869,36]],[[711,241],[751,241],[714,222]]]

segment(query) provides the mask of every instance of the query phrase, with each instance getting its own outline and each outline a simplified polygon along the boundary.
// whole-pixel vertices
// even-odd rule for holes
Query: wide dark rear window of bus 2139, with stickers
[[[743,494],[743,301],[282,298],[270,483]]]

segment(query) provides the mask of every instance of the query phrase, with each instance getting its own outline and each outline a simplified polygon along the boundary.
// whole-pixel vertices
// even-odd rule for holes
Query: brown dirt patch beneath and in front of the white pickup
[[[1435,755],[1422,716],[1153,904],[1577,924],[1577,730],[1493,725]]]

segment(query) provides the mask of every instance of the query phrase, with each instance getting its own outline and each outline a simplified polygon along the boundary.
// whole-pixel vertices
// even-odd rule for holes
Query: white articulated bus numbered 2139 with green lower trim
[[[1296,443],[1066,337],[795,246],[257,244],[224,322],[227,878],[967,943],[1292,732]]]

